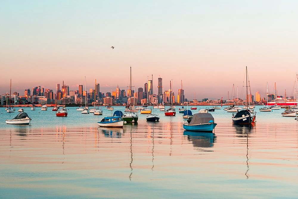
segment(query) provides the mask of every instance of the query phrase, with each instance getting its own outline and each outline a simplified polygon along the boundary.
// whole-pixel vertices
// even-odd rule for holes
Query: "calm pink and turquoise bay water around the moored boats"
[[[298,121],[284,109],[257,112],[250,127],[215,110],[214,134],[184,131],[181,113],[158,109],[160,122],[140,114],[123,129],[97,126],[106,109],[69,107],[68,117],[24,109],[30,126],[5,124],[18,112],[0,108],[1,198],[298,197]]]

